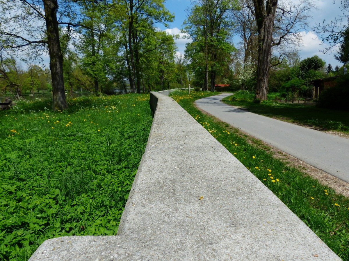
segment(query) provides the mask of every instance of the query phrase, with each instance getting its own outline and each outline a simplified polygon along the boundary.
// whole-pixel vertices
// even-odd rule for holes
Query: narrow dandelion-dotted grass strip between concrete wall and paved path
[[[349,199],[266,150],[249,144],[238,130],[197,110],[199,93],[173,92],[174,100],[207,129],[343,260],[349,260]]]

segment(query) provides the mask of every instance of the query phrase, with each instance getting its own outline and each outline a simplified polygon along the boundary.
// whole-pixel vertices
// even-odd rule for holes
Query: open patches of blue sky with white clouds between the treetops
[[[316,23],[322,23],[324,19],[326,21],[331,21],[335,17],[338,17],[341,15],[340,11],[340,0],[336,0],[335,2],[333,0],[317,0],[315,1],[315,4],[317,5],[317,10],[314,10],[312,12],[312,17],[309,17],[308,21],[310,24],[310,27],[315,25]],[[169,29],[166,29],[162,25],[158,25],[161,30],[166,30],[169,33],[177,34],[179,33],[179,30],[182,27],[182,24],[184,20],[187,17],[187,11],[186,9],[191,6],[190,0],[167,0],[165,2],[166,8],[171,12],[174,13],[175,19],[173,23],[170,23]],[[322,60],[326,61],[326,64],[330,63],[333,68],[336,65],[341,66],[337,60],[334,58],[334,53],[332,54],[323,54],[319,52],[319,49],[325,49],[327,46],[326,44],[321,44],[321,39],[312,31],[303,31],[303,46],[300,47],[300,57],[302,59],[306,57],[311,57],[313,55],[318,55]],[[236,40],[238,42],[239,39]],[[187,40],[179,39],[176,40],[178,51],[180,53],[184,53],[185,49],[185,43]]]

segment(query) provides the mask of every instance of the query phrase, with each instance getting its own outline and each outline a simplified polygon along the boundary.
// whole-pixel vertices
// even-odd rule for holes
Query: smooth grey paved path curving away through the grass
[[[349,182],[349,139],[236,109],[223,93],[197,100],[196,106],[305,163]]]

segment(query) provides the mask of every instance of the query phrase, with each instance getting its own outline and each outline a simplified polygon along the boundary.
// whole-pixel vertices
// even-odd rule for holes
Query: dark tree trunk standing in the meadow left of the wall
[[[63,56],[59,43],[58,22],[56,11],[58,3],[56,0],[43,0],[45,9],[45,21],[47,30],[47,45],[50,54],[50,70],[52,78],[54,111],[68,109],[64,91],[63,79]]]

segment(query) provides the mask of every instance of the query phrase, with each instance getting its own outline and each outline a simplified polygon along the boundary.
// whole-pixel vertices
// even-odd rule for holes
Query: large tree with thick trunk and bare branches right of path
[[[271,48],[282,44],[289,46],[299,39],[299,30],[304,28],[307,13],[314,8],[312,1],[297,1],[295,4],[277,0],[253,0],[253,13],[258,28],[258,65],[255,99],[266,100]],[[252,8],[252,7],[250,7]],[[281,63],[284,55],[276,65]],[[281,60],[280,60],[281,59]]]

